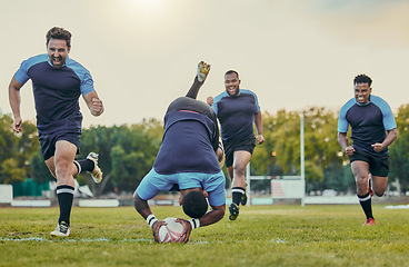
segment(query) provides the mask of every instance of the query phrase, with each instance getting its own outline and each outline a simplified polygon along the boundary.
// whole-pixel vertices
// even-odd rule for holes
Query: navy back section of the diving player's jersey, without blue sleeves
[[[215,142],[218,144],[217,131],[218,126],[206,115],[190,110],[168,111],[162,145],[153,169],[160,175],[220,172],[215,154],[217,147],[213,147]]]

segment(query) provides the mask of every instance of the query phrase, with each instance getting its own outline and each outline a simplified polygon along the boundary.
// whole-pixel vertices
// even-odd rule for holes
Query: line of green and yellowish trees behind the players
[[[300,175],[300,116],[305,116],[305,167],[307,191],[356,189],[348,157],[337,140],[338,111],[311,107],[300,111],[263,112],[265,144],[257,146],[251,158],[251,175]],[[409,105],[396,113],[398,138],[389,147],[390,181],[399,180],[401,191],[409,190]],[[21,135],[11,129],[12,118],[0,117],[0,184],[16,184],[28,177],[38,182],[53,180],[43,162],[37,128],[33,121],[23,121]],[[160,148],[163,125],[157,119],[144,119],[136,125],[92,126],[83,129],[80,154],[99,154],[103,180],[96,185],[89,175],[77,177],[80,185],[89,185],[96,196],[109,191],[133,192],[151,169]],[[230,185],[226,168],[227,186]],[[262,187],[263,182],[252,182]]]

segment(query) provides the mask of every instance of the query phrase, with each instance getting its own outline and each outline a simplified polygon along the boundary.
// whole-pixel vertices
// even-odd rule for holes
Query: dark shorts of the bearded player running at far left
[[[44,160],[54,156],[56,142],[59,140],[69,141],[77,147],[77,154],[80,152],[81,131],[57,131],[51,134],[39,134],[42,157]]]

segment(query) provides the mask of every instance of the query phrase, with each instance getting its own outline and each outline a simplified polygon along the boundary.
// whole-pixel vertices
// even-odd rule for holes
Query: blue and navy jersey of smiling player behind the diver
[[[215,110],[221,126],[221,139],[233,142],[255,137],[255,115],[260,112],[256,93],[240,89],[238,96],[230,97],[227,91],[215,97]]]

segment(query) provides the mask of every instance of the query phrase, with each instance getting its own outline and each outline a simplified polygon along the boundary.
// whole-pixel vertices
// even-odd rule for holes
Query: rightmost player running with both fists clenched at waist
[[[355,98],[343,105],[338,119],[338,142],[351,161],[357,196],[367,216],[363,225],[375,225],[369,172],[375,194],[383,196],[389,174],[388,146],[397,138],[393,113],[383,99],[371,95],[371,83],[372,79],[366,75],[353,79]],[[351,146],[347,137],[349,125]]]

